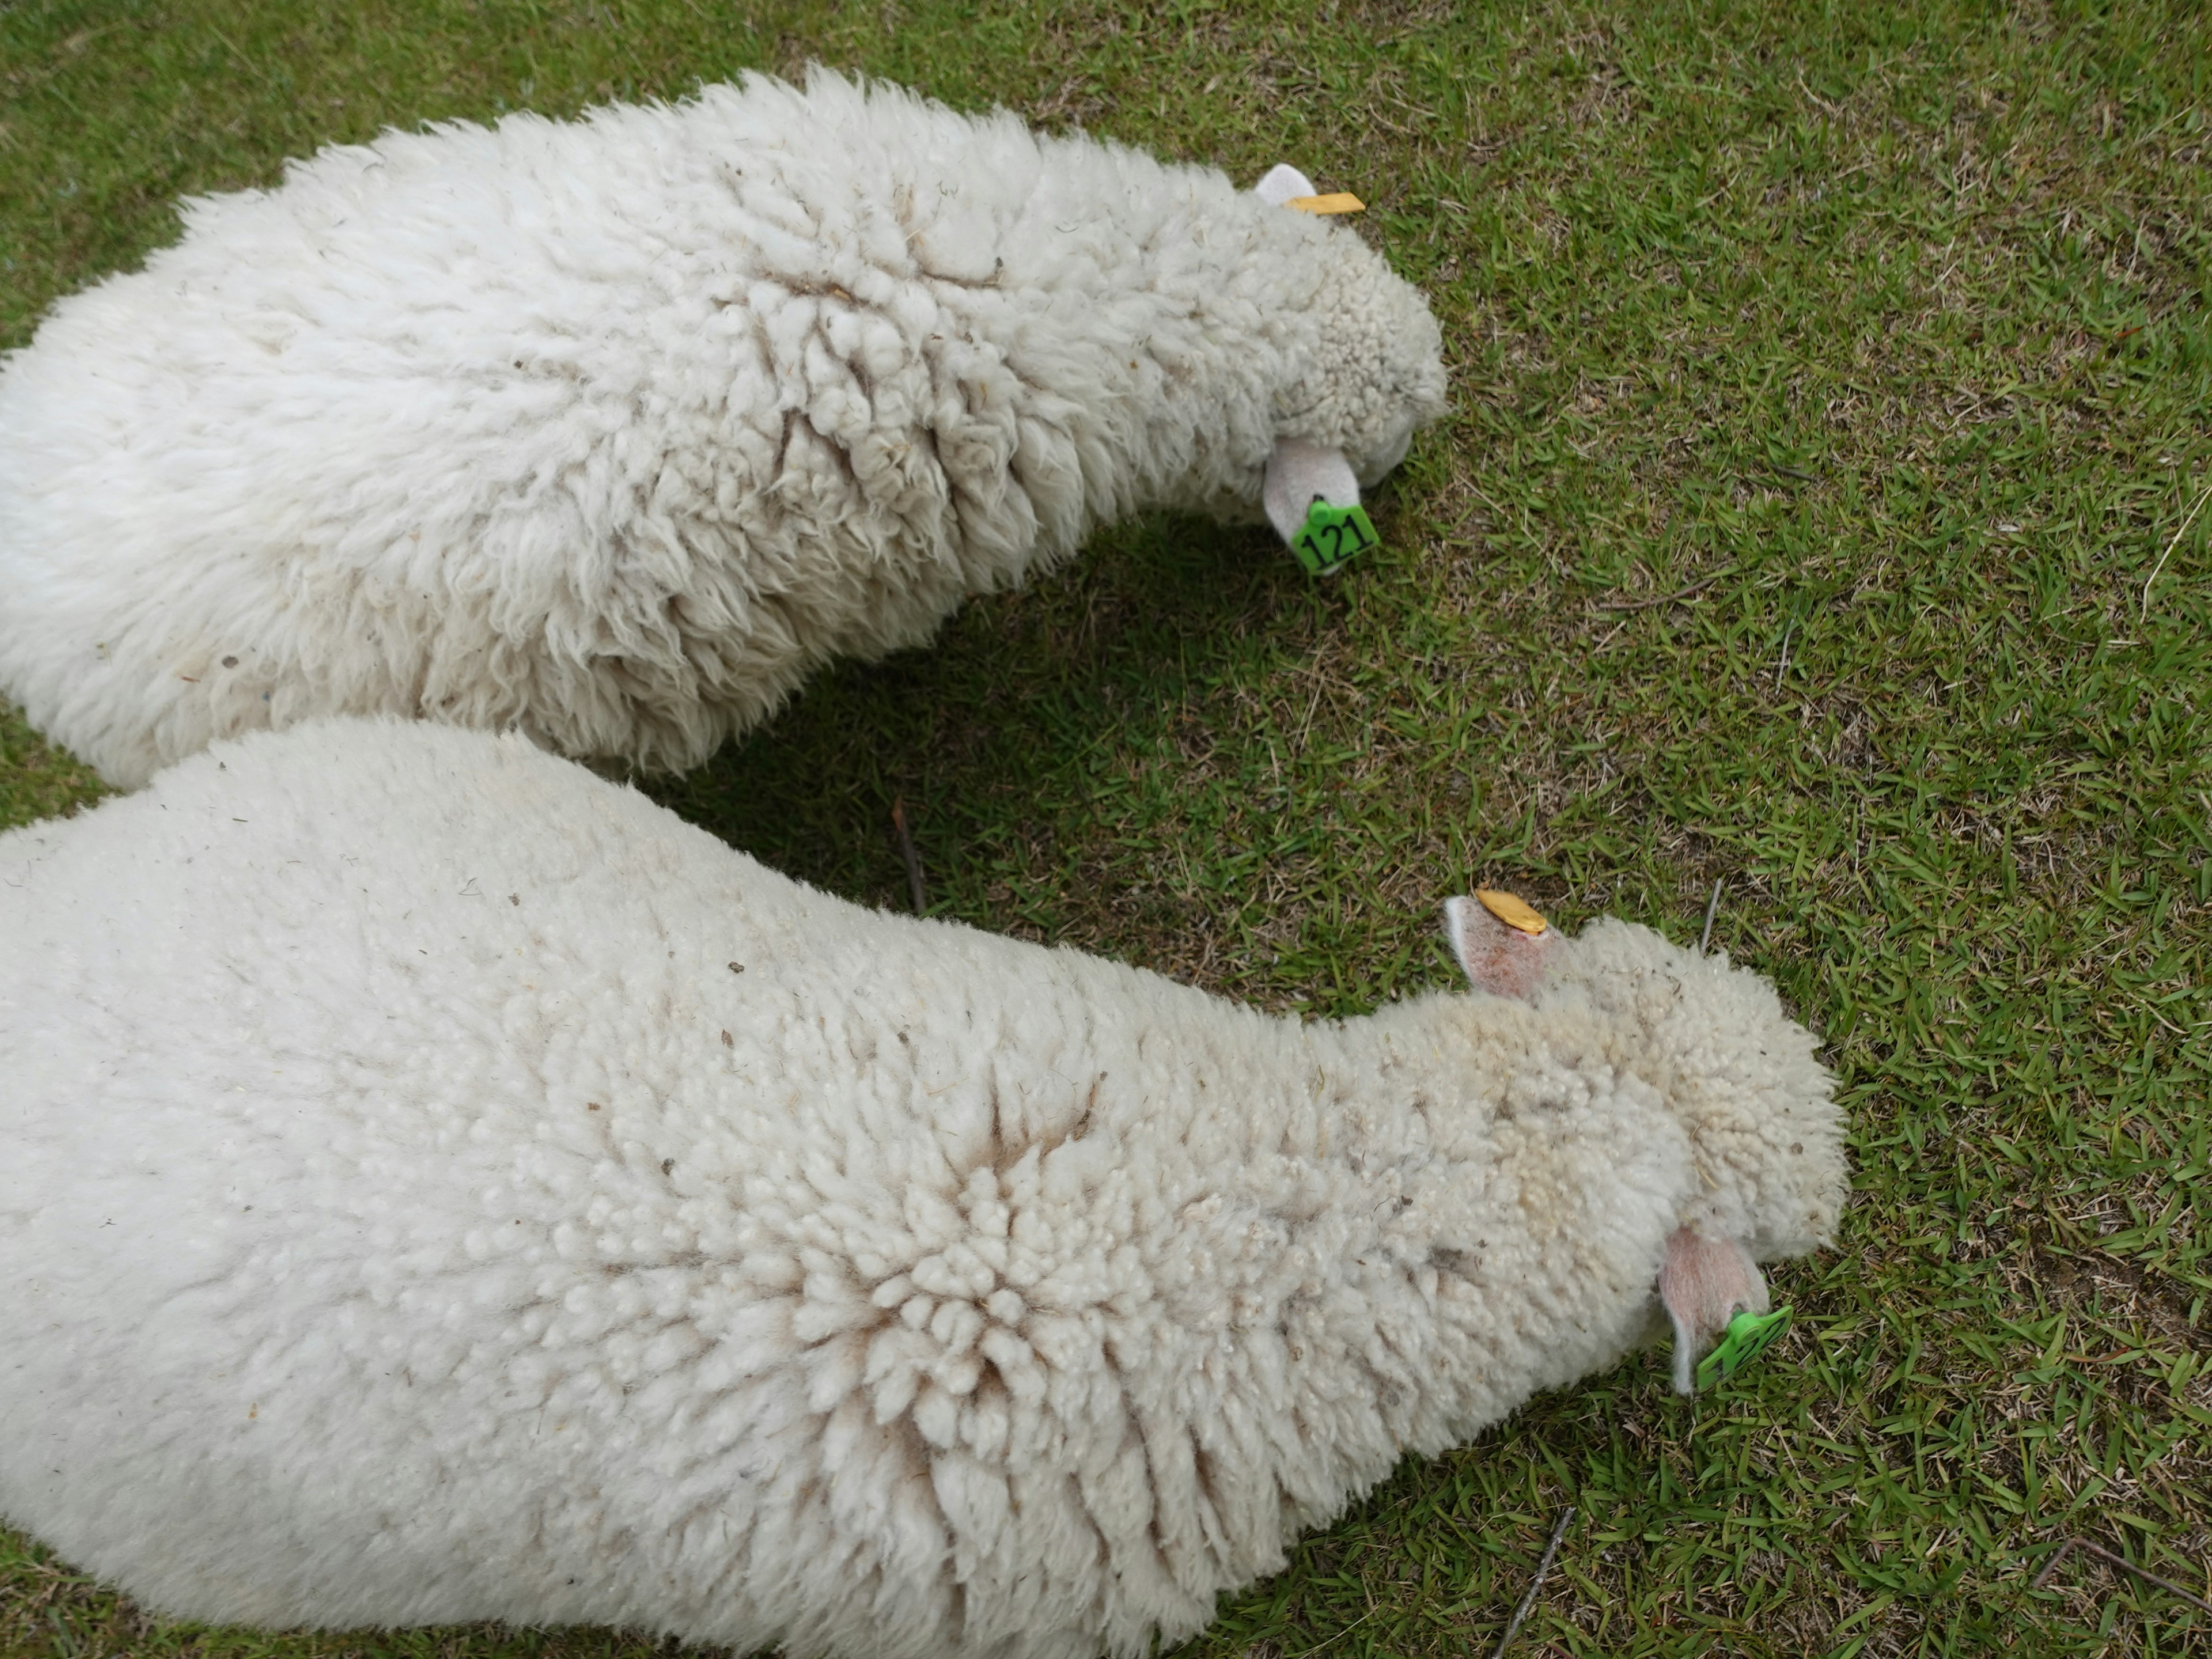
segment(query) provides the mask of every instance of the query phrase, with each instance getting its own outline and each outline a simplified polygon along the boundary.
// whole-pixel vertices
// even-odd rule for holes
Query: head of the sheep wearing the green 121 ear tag
[[[1312,197],[1292,166],[1254,195],[1272,206]],[[1314,500],[1352,507],[1405,460],[1413,431],[1444,411],[1444,336],[1420,290],[1347,232],[1327,234],[1312,314],[1314,347],[1274,394],[1276,447],[1263,504],[1290,540]]]

